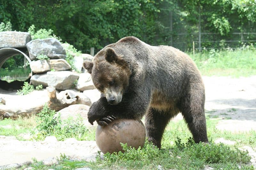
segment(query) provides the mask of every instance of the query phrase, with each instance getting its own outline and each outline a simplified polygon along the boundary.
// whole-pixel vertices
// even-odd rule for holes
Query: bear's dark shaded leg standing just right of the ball
[[[145,125],[147,131],[148,141],[152,142],[159,149],[161,148],[161,139],[164,133],[164,129],[172,114],[169,112],[159,111],[154,108],[149,108],[146,115]]]

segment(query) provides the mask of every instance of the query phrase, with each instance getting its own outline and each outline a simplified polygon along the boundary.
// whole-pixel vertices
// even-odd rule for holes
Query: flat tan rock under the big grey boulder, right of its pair
[[[50,69],[54,69],[55,71],[71,69],[70,64],[64,59],[47,60],[47,63],[49,64]]]

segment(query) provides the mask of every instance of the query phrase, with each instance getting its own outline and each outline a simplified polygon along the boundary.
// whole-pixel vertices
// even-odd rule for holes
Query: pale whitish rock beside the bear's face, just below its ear
[[[90,73],[81,73],[76,84],[76,89],[80,91],[95,89]]]

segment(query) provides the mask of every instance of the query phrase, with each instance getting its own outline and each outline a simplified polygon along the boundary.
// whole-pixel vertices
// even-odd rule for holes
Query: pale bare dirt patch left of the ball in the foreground
[[[72,138],[71,138],[72,139]],[[44,160],[65,153],[71,159],[95,160],[98,147],[95,141],[19,141],[15,137],[0,137],[0,166],[22,163],[32,158]]]

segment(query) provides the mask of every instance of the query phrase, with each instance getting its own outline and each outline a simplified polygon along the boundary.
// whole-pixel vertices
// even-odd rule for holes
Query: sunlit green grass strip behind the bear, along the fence
[[[256,75],[256,50],[253,46],[235,50],[210,50],[189,55],[204,76],[248,77]]]

